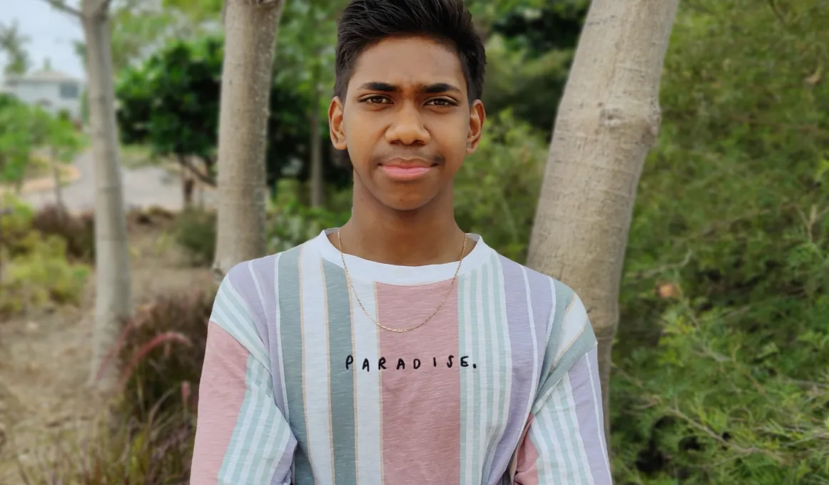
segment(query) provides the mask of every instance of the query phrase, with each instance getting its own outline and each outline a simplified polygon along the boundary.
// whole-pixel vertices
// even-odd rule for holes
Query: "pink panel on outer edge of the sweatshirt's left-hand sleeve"
[[[218,324],[207,327],[191,485],[215,485],[245,400],[248,351]]]

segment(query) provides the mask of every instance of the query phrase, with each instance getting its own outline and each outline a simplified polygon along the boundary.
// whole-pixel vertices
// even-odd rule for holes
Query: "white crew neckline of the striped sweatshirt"
[[[317,237],[308,241],[308,247],[322,256],[322,259],[342,268],[340,250],[337,250],[337,247],[328,240],[328,235],[336,230],[337,228],[322,230]],[[492,248],[483,242],[480,235],[467,235],[475,241],[475,247],[463,258],[458,276],[480,267],[487,259],[492,257]],[[396,264],[378,263],[348,254],[345,255],[345,259],[351,279],[383,284],[423,285],[439,283],[452,279],[455,271],[458,270],[458,261],[444,264],[426,264],[424,266],[398,266]]]

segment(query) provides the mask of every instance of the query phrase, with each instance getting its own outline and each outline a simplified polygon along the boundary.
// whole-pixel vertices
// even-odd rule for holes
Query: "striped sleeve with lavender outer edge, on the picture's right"
[[[551,364],[516,450],[513,483],[611,485],[596,337],[571,290],[570,298],[557,299],[563,316],[553,325]]]

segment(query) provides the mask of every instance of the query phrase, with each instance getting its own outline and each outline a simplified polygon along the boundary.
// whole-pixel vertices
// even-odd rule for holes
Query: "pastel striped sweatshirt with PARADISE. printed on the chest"
[[[191,484],[611,483],[596,337],[570,288],[478,235],[454,285],[457,262],[346,255],[349,285],[328,233],[222,281]],[[372,321],[414,327],[447,294],[411,332]]]

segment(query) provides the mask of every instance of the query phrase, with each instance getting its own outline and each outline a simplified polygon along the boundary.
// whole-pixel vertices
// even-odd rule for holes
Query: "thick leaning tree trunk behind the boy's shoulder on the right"
[[[609,437],[611,347],[642,164],[679,0],[594,0],[561,99],[528,264],[570,285],[599,339]]]

